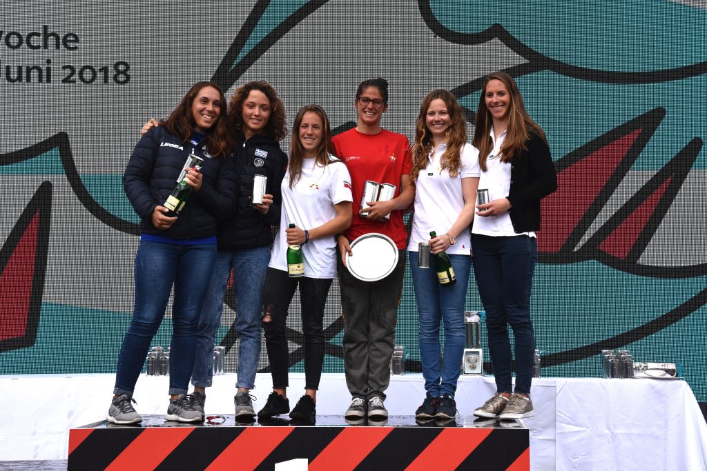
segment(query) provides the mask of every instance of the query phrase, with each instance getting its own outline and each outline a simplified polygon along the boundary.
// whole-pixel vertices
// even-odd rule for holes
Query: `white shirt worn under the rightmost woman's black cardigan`
[[[479,190],[489,190],[489,202],[500,198],[506,198],[510,193],[510,162],[501,162],[501,146],[506,140],[506,131],[501,136],[495,138],[493,126],[491,126],[491,141],[493,150],[486,158],[486,172],[481,172],[479,177]],[[477,201],[479,204],[479,201]],[[498,216],[474,215],[474,234],[481,234],[494,237],[510,237],[525,234],[535,237],[534,232],[515,232],[513,223],[510,222],[508,211]]]

